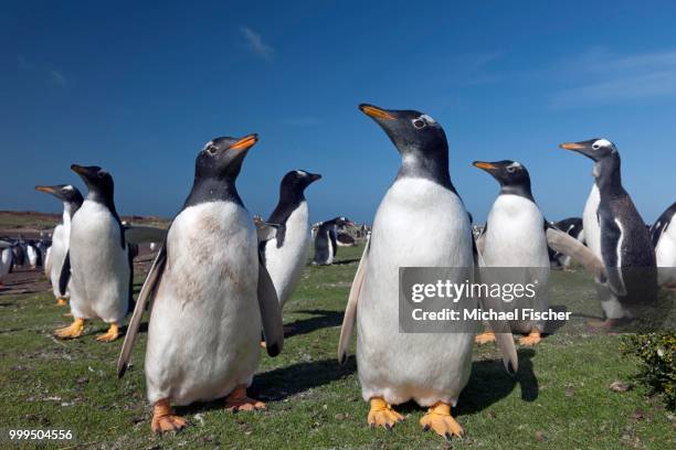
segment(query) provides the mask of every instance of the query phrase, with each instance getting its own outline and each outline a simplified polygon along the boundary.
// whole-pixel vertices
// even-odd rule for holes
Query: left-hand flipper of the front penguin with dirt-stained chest
[[[127,371],[127,366],[129,365],[129,357],[131,356],[131,349],[134,347],[134,342],[136,341],[136,335],[138,334],[138,328],[140,325],[144,311],[146,310],[146,304],[149,304],[148,309],[150,310],[152,307],[152,297],[155,296],[156,288],[162,278],[166,265],[167,244],[165,243],[162,244],[162,247],[157,254],[157,257],[152,262],[152,267],[150,267],[150,270],[148,271],[146,282],[144,282],[144,287],[141,288],[141,291],[138,294],[138,300],[136,301],[136,307],[134,308],[134,314],[131,314],[131,320],[129,320],[129,325],[127,325],[125,342],[123,343],[122,351],[119,352],[119,358],[117,360],[118,378],[122,378],[123,375],[125,375],[125,372]]]

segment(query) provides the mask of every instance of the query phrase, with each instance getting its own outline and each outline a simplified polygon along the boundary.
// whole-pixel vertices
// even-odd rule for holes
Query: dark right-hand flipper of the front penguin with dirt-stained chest
[[[277,291],[263,261],[258,261],[258,308],[267,354],[277,356],[284,346],[284,326]]]

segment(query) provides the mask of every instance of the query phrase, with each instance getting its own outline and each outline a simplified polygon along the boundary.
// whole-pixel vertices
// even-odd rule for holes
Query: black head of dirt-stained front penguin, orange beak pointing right
[[[258,135],[241,139],[222,137],[207,142],[194,163],[196,179],[234,181],[240,174],[244,157],[258,141]]]

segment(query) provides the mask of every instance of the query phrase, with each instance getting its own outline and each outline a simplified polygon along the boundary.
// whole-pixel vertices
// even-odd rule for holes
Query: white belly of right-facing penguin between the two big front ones
[[[303,268],[307,262],[310,246],[307,202],[302,202],[286,219],[284,244],[277,248],[277,239],[265,245],[265,267],[272,277],[279,304],[294,292]]]

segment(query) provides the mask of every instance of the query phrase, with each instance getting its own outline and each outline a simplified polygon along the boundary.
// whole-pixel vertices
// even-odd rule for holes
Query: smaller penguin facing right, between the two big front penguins
[[[266,221],[276,225],[276,234],[268,240],[262,240],[258,249],[275,285],[279,308],[284,308],[296,289],[307,264],[310,229],[305,189],[320,178],[318,173],[304,170],[292,170],[284,175],[279,185],[279,202]]]

